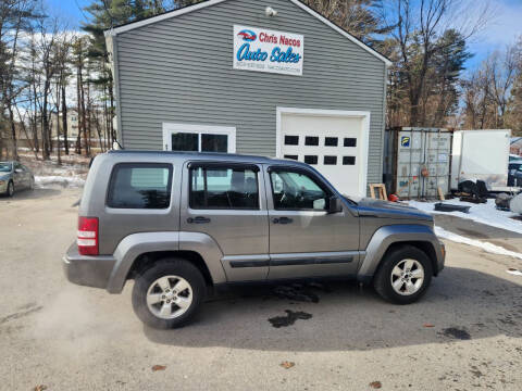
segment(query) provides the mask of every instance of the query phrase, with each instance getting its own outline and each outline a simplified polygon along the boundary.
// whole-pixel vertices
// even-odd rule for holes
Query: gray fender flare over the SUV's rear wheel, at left
[[[158,251],[195,251],[201,255],[213,283],[226,281],[221,264],[222,251],[208,235],[200,232],[166,231],[140,232],[125,237],[114,251],[116,260],[107,285],[110,293],[121,293],[128,273],[139,255]]]

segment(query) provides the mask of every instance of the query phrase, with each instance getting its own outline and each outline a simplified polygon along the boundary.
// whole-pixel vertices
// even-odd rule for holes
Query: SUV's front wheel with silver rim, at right
[[[422,272],[422,279],[419,278],[421,274],[417,270]],[[402,245],[385,255],[373,279],[373,286],[386,301],[411,304],[426,292],[432,276],[430,257],[418,248]]]

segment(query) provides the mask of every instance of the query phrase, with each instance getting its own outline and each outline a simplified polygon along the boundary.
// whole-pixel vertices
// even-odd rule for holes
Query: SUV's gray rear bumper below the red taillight
[[[107,288],[116,263],[112,255],[80,255],[76,243],[71,244],[62,261],[71,282],[94,288]]]

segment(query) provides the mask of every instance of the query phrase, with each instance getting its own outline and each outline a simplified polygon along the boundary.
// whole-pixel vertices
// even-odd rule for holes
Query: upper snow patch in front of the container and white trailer
[[[513,232],[522,234],[522,223],[511,218],[517,216],[512,212],[499,211],[495,207],[495,200],[487,200],[487,203],[474,204],[471,202],[462,202],[458,199],[442,201],[445,204],[451,205],[465,205],[471,206],[470,213],[462,212],[436,212],[434,210],[435,203],[440,202],[420,202],[420,201],[408,201],[410,206],[417,207],[426,213],[431,214],[450,214],[461,218],[469,218],[476,223],[485,224],[492,227],[507,229]]]

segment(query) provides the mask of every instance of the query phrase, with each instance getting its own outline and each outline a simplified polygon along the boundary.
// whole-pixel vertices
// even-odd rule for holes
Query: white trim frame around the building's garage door
[[[277,106],[276,116],[276,136],[275,136],[275,156],[283,157],[282,149],[282,117],[283,114],[297,114],[297,115],[313,115],[313,116],[339,116],[347,118],[361,118],[362,119],[362,135],[361,142],[358,143],[358,148],[361,151],[362,162],[359,169],[359,191],[358,195],[366,195],[368,186],[368,154],[370,150],[370,116],[371,113],[366,111],[345,111],[345,110],[323,110],[323,109],[299,109],[299,108],[282,108]]]

